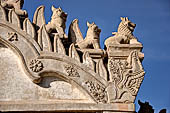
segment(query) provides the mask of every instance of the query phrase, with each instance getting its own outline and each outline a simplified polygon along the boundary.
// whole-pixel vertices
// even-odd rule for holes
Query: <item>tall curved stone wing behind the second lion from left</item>
[[[38,29],[45,24],[44,9],[44,6],[40,6],[34,13],[33,24],[36,25],[36,28]]]

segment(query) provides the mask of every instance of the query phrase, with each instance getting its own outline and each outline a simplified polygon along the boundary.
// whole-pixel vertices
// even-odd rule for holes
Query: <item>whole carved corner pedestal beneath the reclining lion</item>
[[[109,101],[133,103],[145,73],[141,64],[144,58],[142,45],[110,44],[107,47]]]

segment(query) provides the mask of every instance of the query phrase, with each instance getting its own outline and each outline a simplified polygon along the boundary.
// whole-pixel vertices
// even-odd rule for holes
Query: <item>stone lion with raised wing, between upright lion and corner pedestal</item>
[[[83,39],[83,36],[78,27],[78,20],[75,19],[69,28],[69,38],[80,49],[100,49],[99,37],[101,29],[99,29],[94,22],[92,24],[87,22],[87,26],[87,34],[85,39]]]

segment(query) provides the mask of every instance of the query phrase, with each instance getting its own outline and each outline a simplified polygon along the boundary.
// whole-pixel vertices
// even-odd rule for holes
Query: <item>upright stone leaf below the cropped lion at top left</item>
[[[21,28],[20,20],[14,10],[10,10],[8,13],[9,22]]]

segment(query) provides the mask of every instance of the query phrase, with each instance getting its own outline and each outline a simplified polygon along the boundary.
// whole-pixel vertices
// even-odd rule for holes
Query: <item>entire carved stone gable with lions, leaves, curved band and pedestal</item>
[[[46,24],[44,6],[31,22],[20,6],[24,0],[14,1],[5,3],[13,9],[0,5],[1,112],[134,113],[145,74],[143,46],[133,35],[136,24],[121,18],[103,50],[94,22],[87,22],[85,38],[78,19],[66,34],[67,13],[60,7],[51,7]]]

